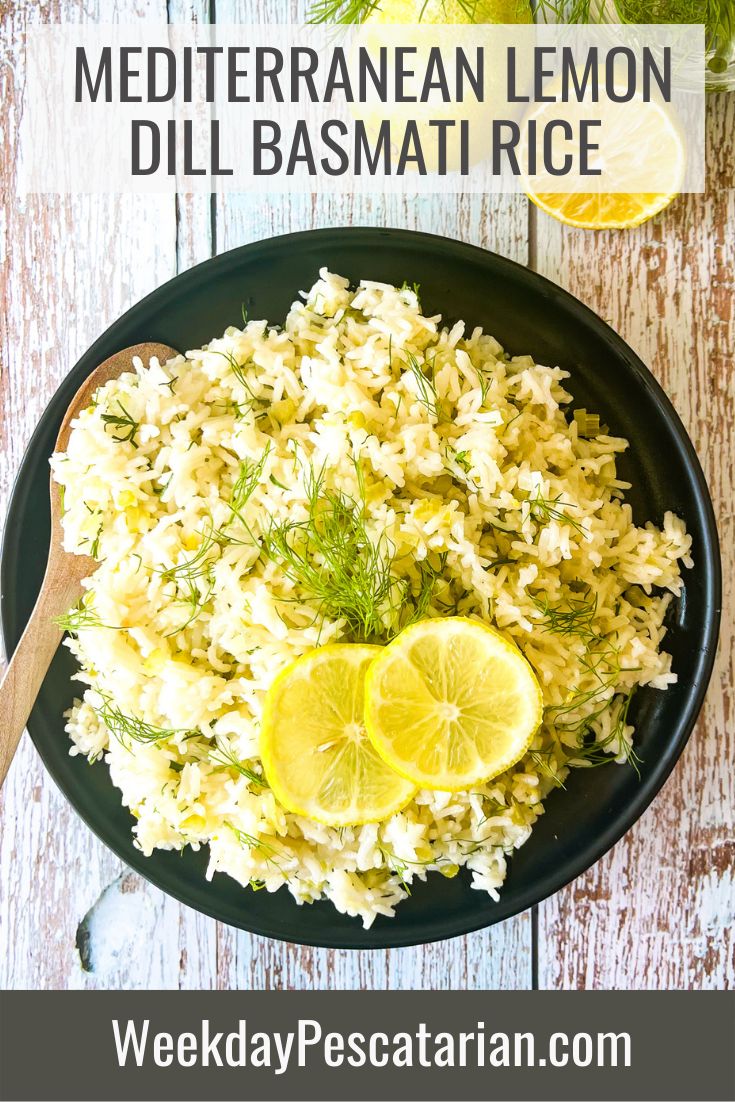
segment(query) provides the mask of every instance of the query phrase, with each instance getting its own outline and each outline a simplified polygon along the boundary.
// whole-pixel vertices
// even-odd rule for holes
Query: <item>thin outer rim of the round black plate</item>
[[[565,291],[556,283],[547,279],[544,276],[533,271],[533,269],[529,268],[527,264],[510,260],[509,258],[502,257],[489,249],[456,240],[454,238],[447,238],[440,234],[429,234],[421,230],[382,226],[333,226],[317,229],[298,230],[290,234],[281,234],[250,241],[246,245],[226,250],[218,256],[204,260],[201,263],[173,276],[171,279],[154,288],[132,306],[116,317],[97,337],[97,339],[82,354],[82,356],[79,356],[69,371],[61,380],[45,410],[41,414],[41,418],[39,419],[23,452],[20,466],[13,478],[6,514],[2,545],[0,549],[0,624],[2,627],[2,638],[6,652],[9,658],[18,645],[18,640],[24,627],[24,625],[21,625],[20,623],[12,623],[12,620],[18,619],[18,617],[12,616],[10,607],[10,569],[11,560],[13,558],[10,549],[11,543],[13,542],[18,548],[22,545],[22,534],[20,531],[13,532],[15,526],[12,521],[15,515],[19,511],[22,511],[23,505],[29,497],[29,487],[25,485],[24,476],[31,460],[37,451],[39,437],[45,430],[50,420],[53,420],[57,413],[63,414],[64,409],[73,396],[77,382],[94,369],[96,366],[96,358],[99,357],[97,349],[104,344],[104,342],[106,342],[110,331],[117,328],[126,321],[133,320],[138,313],[145,313],[147,309],[151,304],[151,300],[155,300],[159,304],[159,309],[164,311],[170,299],[174,295],[179,296],[180,294],[185,294],[190,284],[198,283],[199,280],[206,279],[206,277],[212,272],[225,272],[229,270],[230,267],[236,267],[240,262],[241,258],[246,258],[248,262],[252,262],[253,260],[257,260],[259,255],[268,253],[271,250],[281,251],[284,248],[298,248],[299,242],[304,239],[307,239],[310,242],[318,244],[318,241],[333,240],[335,238],[344,239],[345,236],[352,237],[354,240],[359,240],[360,238],[367,240],[375,237],[385,237],[393,240],[403,240],[407,244],[418,242],[421,240],[424,247],[430,249],[440,248],[442,250],[448,250],[458,259],[473,261],[480,267],[490,263],[496,268],[496,271],[498,269],[502,270],[506,268],[514,273],[516,279],[530,279],[531,282],[540,283],[549,298],[555,299],[564,304],[564,309],[568,313],[571,312],[572,314],[577,315],[580,320],[587,324],[587,326],[592,326],[592,328],[597,329],[606,342],[613,346],[617,356],[626,361],[627,366],[636,375],[640,385],[642,385],[657,401],[663,420],[668,422],[673,435],[677,439],[682,457],[684,458],[687,468],[692,477],[698,503],[698,512],[700,515],[703,537],[702,570],[705,588],[704,637],[700,640],[698,662],[691,678],[694,691],[688,696],[687,707],[682,711],[679,717],[675,727],[675,737],[668,742],[666,753],[657,759],[651,771],[647,774],[646,780],[641,781],[641,788],[637,790],[636,797],[626,806],[625,813],[618,815],[610,827],[598,833],[594,843],[588,843],[583,849],[582,853],[577,855],[574,862],[564,862],[563,867],[565,869],[571,868],[571,872],[565,871],[561,875],[547,874],[540,880],[534,880],[533,884],[528,885],[518,893],[517,898],[510,908],[502,907],[502,896],[500,896],[499,903],[493,903],[488,898],[487,910],[475,912],[475,917],[471,921],[463,920],[462,917],[457,917],[454,921],[441,919],[439,920],[439,923],[442,929],[434,929],[429,920],[426,933],[421,937],[417,937],[414,932],[408,931],[402,934],[399,923],[396,923],[394,926],[391,925],[390,927],[380,926],[377,931],[375,928],[364,930],[359,926],[359,920],[354,919],[354,934],[350,929],[345,928],[345,934],[341,938],[329,937],[328,939],[325,938],[322,940],[315,940],[311,937],[299,938],[289,936],[287,939],[273,932],[272,929],[263,928],[262,923],[258,921],[248,921],[249,916],[247,911],[245,911],[241,916],[241,921],[234,923],[229,915],[225,917],[219,911],[216,900],[213,900],[213,905],[204,909],[197,903],[193,903],[185,890],[177,889],[175,884],[163,887],[161,879],[166,879],[166,877],[162,877],[161,873],[154,875],[152,869],[151,872],[148,872],[147,867],[150,868],[150,865],[148,864],[148,858],[144,857],[142,853],[133,851],[131,857],[130,853],[123,852],[115,842],[110,842],[110,840],[102,833],[102,830],[98,829],[98,825],[90,821],[90,817],[88,817],[87,813],[77,806],[71,795],[72,786],[67,784],[67,774],[64,771],[58,774],[47,759],[44,752],[44,739],[41,730],[43,721],[37,714],[37,705],[34,705],[31,717],[29,719],[28,731],[31,735],[35,749],[44,764],[46,773],[51,776],[56,787],[64,795],[75,813],[80,817],[80,819],[102,842],[102,844],[115,853],[116,856],[123,862],[123,864],[133,868],[145,880],[153,884],[159,890],[165,892],[180,903],[186,905],[187,907],[192,907],[192,909],[197,910],[201,914],[205,914],[217,921],[221,921],[226,925],[234,926],[234,928],[239,928],[260,937],[316,948],[371,950],[407,948],[410,946],[428,944],[433,941],[448,940],[451,938],[477,932],[478,930],[483,930],[522,914],[530,907],[537,906],[544,899],[548,899],[551,895],[560,892],[579,876],[587,872],[631,829],[631,827],[638,819],[640,819],[652,800],[662,789],[673,767],[679,760],[701,713],[706,689],[712,677],[717,650],[722,609],[722,564],[716,519],[709,486],[694,450],[694,445],[683,425],[683,422],[681,421],[681,418],[658,379],[652,375],[649,368],[646,367],[640,357],[624,341],[624,338],[590,306],[581,302],[581,300],[575,298],[569,291]],[[294,294],[298,294],[298,291],[294,291]],[[68,397],[66,397],[67,393]],[[493,911],[496,909],[498,911],[502,911],[502,914],[494,915]],[[378,937],[375,936],[376,933],[378,933]]]

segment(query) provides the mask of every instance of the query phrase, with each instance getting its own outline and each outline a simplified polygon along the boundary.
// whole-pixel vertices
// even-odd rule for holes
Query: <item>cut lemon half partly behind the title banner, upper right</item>
[[[553,191],[554,177],[539,172],[526,179],[528,197],[553,218],[580,229],[629,229],[640,226],[677,197],[684,177],[684,144],[680,129],[666,106],[656,100],[615,104],[543,104],[532,112],[537,133],[552,118],[575,128],[583,118],[601,121],[598,154],[601,191],[562,194]],[[539,138],[539,141],[541,139]],[[540,154],[540,149],[537,151]],[[541,163],[539,156],[539,164]],[[597,177],[591,176],[593,182]],[[650,191],[655,181],[657,191]],[[613,190],[610,190],[613,188]],[[644,190],[646,188],[646,190]]]

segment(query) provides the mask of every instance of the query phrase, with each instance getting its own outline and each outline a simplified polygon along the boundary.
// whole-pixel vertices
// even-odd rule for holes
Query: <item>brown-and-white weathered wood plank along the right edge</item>
[[[709,184],[652,224],[585,235],[539,215],[538,267],[641,355],[687,424],[720,516],[726,602],[715,674],[652,807],[539,911],[541,987],[735,983],[735,97],[709,102]]]

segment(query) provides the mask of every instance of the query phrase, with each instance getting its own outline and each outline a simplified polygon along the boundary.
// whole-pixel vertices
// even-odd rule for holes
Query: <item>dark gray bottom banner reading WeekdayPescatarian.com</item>
[[[0,993],[3,1102],[735,1099],[735,994]]]

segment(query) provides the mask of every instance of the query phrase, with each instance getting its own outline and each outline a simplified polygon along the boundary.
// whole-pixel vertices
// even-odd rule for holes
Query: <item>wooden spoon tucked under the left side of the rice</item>
[[[110,379],[117,379],[125,371],[132,370],[133,356],[140,356],[144,364],[152,356],[158,356],[163,364],[177,355],[175,348],[147,342],[123,348],[106,359],[82,383],[69,403],[56,437],[55,451],[66,451],[74,418],[86,409],[99,387]],[[83,580],[89,577],[98,565],[88,555],[71,554],[64,550],[62,511],[61,487],[52,478],[51,542],[46,572],[31,618],[0,684],[0,786],[6,779],[23,727],[64,634],[54,620],[79,599]]]

